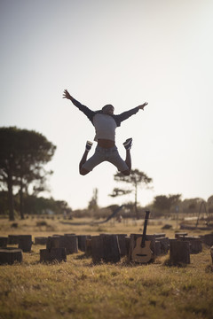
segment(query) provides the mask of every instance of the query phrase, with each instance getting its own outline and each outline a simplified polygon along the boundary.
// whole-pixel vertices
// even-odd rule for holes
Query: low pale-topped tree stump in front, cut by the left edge
[[[23,260],[22,250],[19,248],[4,248],[0,249],[0,265],[12,265],[15,261]]]

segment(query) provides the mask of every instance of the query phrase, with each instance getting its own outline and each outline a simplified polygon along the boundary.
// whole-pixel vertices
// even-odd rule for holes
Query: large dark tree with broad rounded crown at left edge
[[[43,165],[49,162],[56,146],[34,130],[0,128],[0,183],[7,187],[9,219],[14,220],[13,187],[20,189],[20,214],[23,214],[23,191],[29,184],[43,181],[50,174]]]

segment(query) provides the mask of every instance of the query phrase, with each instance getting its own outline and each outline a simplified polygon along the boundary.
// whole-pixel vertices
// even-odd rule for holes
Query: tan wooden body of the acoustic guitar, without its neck
[[[141,246],[142,237],[136,240],[136,246],[131,253],[131,259],[135,262],[146,263],[152,259],[152,251],[150,249],[151,241],[146,240],[145,246]]]

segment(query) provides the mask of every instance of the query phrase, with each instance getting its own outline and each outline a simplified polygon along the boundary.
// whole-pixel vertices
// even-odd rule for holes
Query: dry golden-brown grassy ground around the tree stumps
[[[1,221],[0,236],[31,234],[99,234],[140,233],[142,221],[108,222],[102,225],[72,225],[60,220],[28,219]],[[85,220],[70,222],[89,222]],[[171,230],[162,230],[164,223]],[[174,237],[176,222],[152,222],[148,234],[166,232]],[[190,231],[189,235],[207,232]],[[33,245],[23,253],[22,264],[0,266],[0,319],[4,318],[213,318],[213,271],[209,247],[191,255],[186,267],[167,266],[169,255],[148,265],[128,264],[125,258],[117,264],[93,265],[83,253],[67,256],[67,262],[51,265],[39,262],[42,245]]]

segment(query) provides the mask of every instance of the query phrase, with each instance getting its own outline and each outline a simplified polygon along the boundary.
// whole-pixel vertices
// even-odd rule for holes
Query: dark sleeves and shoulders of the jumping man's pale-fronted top
[[[74,97],[72,97],[72,102],[80,111],[82,111],[88,117],[88,119],[91,121],[92,125],[94,125],[93,124],[94,115],[97,113],[102,113],[102,110],[91,111],[91,109],[89,109],[89,107],[82,105],[80,102],[75,100]],[[138,108],[138,106],[136,106],[129,111],[123,112],[123,113],[118,114],[118,115],[110,115],[110,116],[112,116],[114,118],[114,121],[116,122],[117,127],[120,127],[122,121],[127,120],[131,115],[138,113],[138,111],[139,111],[139,108]]]

